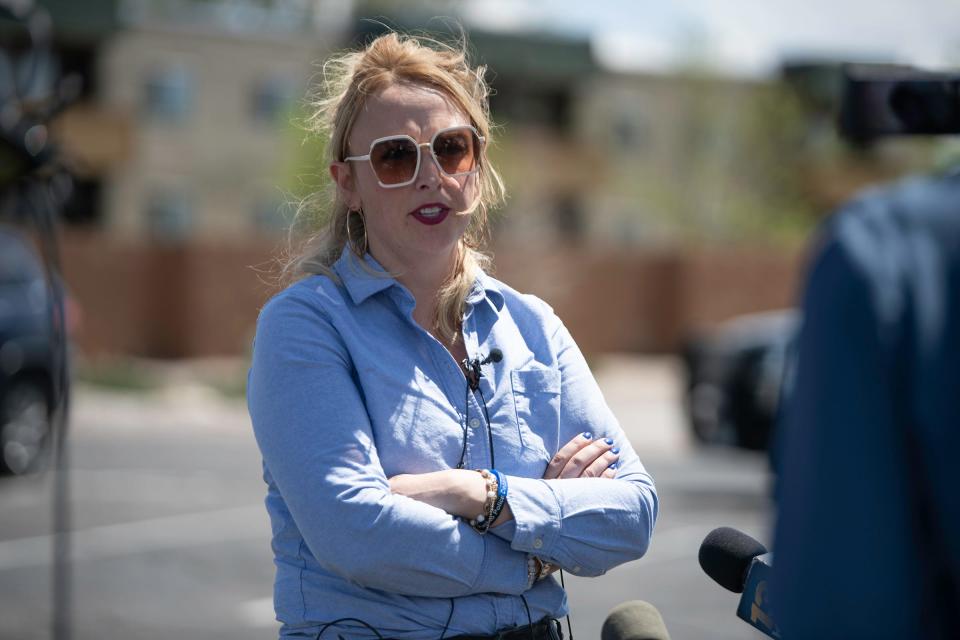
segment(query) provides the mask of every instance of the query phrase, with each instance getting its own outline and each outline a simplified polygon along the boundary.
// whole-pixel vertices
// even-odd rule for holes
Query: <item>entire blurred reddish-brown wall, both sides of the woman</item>
[[[88,355],[246,353],[257,311],[276,290],[270,243],[168,248],[70,233],[62,247],[83,315],[77,341]],[[553,305],[585,352],[664,352],[691,331],[789,306],[801,256],[504,247],[495,264],[498,278]]]

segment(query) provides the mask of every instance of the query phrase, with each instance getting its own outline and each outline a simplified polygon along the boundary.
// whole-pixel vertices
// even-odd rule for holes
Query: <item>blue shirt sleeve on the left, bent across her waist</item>
[[[390,492],[350,357],[313,295],[291,289],[264,308],[247,389],[265,467],[310,552],[393,593],[523,593],[525,554]]]

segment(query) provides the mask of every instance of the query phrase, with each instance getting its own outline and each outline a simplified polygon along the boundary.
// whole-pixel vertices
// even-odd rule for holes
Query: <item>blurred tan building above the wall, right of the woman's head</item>
[[[355,41],[386,30],[357,26]],[[491,153],[510,194],[501,249],[645,250],[757,237],[781,220],[810,224],[791,171],[803,113],[783,85],[694,67],[613,72],[587,37],[534,29],[469,34],[488,68],[499,125]]]

